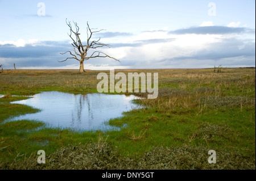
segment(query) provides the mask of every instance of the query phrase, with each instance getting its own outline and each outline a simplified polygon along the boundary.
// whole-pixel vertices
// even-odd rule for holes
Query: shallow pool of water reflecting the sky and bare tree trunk
[[[104,124],[105,121],[120,117],[122,112],[133,108],[141,108],[131,102],[133,99],[137,97],[134,95],[75,95],[57,91],[42,92],[34,95],[33,98],[12,102],[26,104],[42,111],[14,117],[11,120],[39,120],[52,127],[105,131],[113,128]]]

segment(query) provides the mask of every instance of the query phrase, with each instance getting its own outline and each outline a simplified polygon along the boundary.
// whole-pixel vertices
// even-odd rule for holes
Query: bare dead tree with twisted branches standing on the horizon
[[[113,58],[116,61],[119,61],[114,57],[108,56],[106,53],[103,53],[103,52],[100,52],[100,51],[96,50],[97,48],[101,48],[101,47],[109,47],[110,48],[109,44],[100,43],[100,38],[97,41],[91,41],[90,40],[93,33],[97,33],[97,32],[100,32],[102,30],[92,31],[92,30],[97,30],[97,28],[90,28],[89,24],[87,22],[87,41],[86,41],[85,44],[82,44],[82,41],[81,41],[80,36],[79,36],[80,35],[79,26],[77,26],[77,23],[73,22],[75,24],[75,29],[76,30],[72,29],[71,23],[67,22],[67,19],[66,19],[66,23],[67,23],[67,25],[70,29],[70,34],[68,33],[68,36],[73,41],[72,46],[73,46],[74,52],[73,53],[71,51],[65,52],[65,53],[69,53],[72,57],[68,57],[65,60],[59,61],[59,62],[64,62],[64,61],[68,60],[69,58],[74,58],[74,59],[76,59],[77,61],[80,62],[79,73],[82,73],[82,72],[85,71],[84,70],[84,61],[89,60],[90,58],[109,57],[109,58]],[[89,53],[88,51],[90,49],[93,49],[94,51],[93,51],[93,53],[91,53],[88,56],[88,53]],[[65,54],[65,53],[60,53],[60,54]]]

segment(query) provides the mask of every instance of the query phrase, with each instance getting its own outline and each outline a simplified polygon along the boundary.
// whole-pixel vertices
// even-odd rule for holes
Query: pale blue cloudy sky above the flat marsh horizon
[[[76,22],[82,42],[111,45],[91,58],[90,70],[255,67],[255,1],[245,0],[0,0],[3,69],[79,69],[65,20]]]

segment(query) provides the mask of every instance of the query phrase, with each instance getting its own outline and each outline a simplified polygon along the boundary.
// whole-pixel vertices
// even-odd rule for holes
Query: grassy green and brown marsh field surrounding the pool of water
[[[142,108],[108,121],[119,130],[77,132],[37,120],[5,122],[40,111],[11,103],[31,99],[24,95],[97,93],[100,72],[109,74],[4,70],[0,169],[255,169],[255,68],[115,70],[157,72],[159,87],[158,98],[134,100]],[[38,150],[45,151],[46,163],[38,163]],[[209,150],[216,151],[216,163],[208,162]]]

